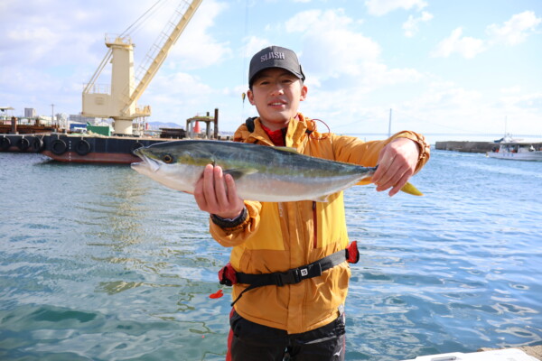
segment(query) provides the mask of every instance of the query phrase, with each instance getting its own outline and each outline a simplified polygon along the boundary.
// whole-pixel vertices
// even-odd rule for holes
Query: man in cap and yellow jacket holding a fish
[[[390,196],[429,159],[425,138],[413,132],[367,143],[319,133],[315,122],[298,112],[307,97],[304,79],[294,51],[278,46],[258,51],[248,72],[248,100],[258,117],[240,125],[234,141],[378,164],[372,181]],[[343,360],[350,279],[346,261],[352,249],[349,256],[342,192],[327,202],[243,200],[233,178],[210,164],[194,197],[210,213],[211,235],[220,245],[233,247],[230,265],[222,270],[235,283],[227,359]]]

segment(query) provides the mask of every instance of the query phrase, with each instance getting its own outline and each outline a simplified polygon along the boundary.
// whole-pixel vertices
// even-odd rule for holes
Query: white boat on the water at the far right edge
[[[486,156],[514,161],[542,162],[542,140],[528,142],[523,139],[512,139],[505,136],[499,143],[495,143],[493,150],[486,153]]]

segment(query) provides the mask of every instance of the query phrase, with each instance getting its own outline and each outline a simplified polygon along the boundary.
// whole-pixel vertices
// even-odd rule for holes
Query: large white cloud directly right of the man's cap
[[[358,25],[342,10],[307,11],[287,21],[285,28],[300,33],[303,44],[299,55],[309,97],[302,112],[326,119],[374,118],[366,101],[376,90],[423,78],[416,69],[390,69],[378,42],[356,31]]]

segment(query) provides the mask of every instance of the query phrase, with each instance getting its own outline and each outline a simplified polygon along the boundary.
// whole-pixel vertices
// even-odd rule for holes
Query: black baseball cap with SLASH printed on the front
[[[301,69],[301,65],[299,64],[299,60],[297,60],[295,52],[273,45],[258,51],[252,57],[252,60],[250,60],[248,86],[252,87],[252,83],[258,72],[269,68],[286,69],[297,78],[304,80],[303,69]]]

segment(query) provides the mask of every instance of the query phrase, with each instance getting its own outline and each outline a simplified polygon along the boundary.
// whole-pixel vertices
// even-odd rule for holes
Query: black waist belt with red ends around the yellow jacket
[[[338,264],[342,264],[344,261],[347,261],[349,264],[357,264],[358,261],[360,261],[360,251],[358,250],[356,241],[350,243],[346,249],[325,256],[318,261],[314,261],[312,264],[292,268],[285,272],[257,274],[240,273],[228,263],[220,269],[219,280],[220,284],[226,286],[232,286],[238,283],[248,284],[248,287],[240,292],[235,301],[231,303],[231,306],[233,306],[239,301],[241,296],[243,296],[243,293],[254,290],[257,287],[270,285],[282,287],[286,284],[299,283],[309,278],[318,277],[322,275],[322,272],[327,271]]]

